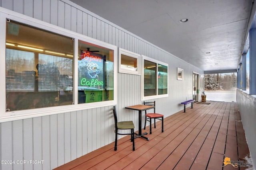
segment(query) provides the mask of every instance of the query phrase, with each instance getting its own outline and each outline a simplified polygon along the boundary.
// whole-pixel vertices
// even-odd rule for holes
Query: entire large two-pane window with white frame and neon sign
[[[117,47],[0,12],[0,122],[117,103]]]

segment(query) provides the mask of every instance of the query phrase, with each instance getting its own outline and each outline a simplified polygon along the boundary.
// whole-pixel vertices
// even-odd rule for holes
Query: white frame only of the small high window
[[[137,71],[132,71],[132,70],[125,70],[125,69],[122,69],[121,68],[121,55],[127,55],[129,57],[132,57],[132,58],[135,58],[137,59]],[[128,51],[128,50],[125,50],[125,49],[122,49],[122,48],[119,48],[119,53],[118,53],[118,68],[119,68],[119,71],[120,73],[126,73],[126,74],[135,74],[135,75],[141,75],[141,55],[140,54],[137,54],[137,53],[134,53],[134,52],[131,52],[131,51]]]

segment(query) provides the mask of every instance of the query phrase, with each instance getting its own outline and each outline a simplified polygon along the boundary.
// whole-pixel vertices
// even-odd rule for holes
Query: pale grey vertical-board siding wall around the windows
[[[193,71],[203,75],[202,70],[68,0],[0,0],[0,6],[168,63],[169,97],[156,99],[156,111],[165,117],[182,110],[180,102],[192,99]],[[177,80],[177,67],[184,69],[184,81]],[[141,76],[118,73],[117,80],[118,119],[138,125],[138,112],[124,107],[142,104]],[[112,143],[113,125],[112,106],[0,123],[0,160],[44,160],[33,165],[0,164],[0,170],[56,168]]]

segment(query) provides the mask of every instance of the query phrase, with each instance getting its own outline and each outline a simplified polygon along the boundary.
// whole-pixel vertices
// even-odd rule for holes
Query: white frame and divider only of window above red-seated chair
[[[147,57],[145,55],[141,55],[142,56],[142,64],[141,64],[141,68],[142,68],[142,73],[141,73],[141,100],[149,100],[149,99],[156,99],[156,98],[164,98],[164,97],[168,97],[169,96],[169,66],[168,63],[164,63],[161,61],[158,61],[156,59],[152,59],[150,57]],[[158,76],[156,75],[156,95],[153,96],[144,96],[144,60],[156,63],[157,65],[157,69],[156,69],[156,73],[158,73],[158,64],[162,64],[164,66],[167,66],[167,94],[158,94]]]

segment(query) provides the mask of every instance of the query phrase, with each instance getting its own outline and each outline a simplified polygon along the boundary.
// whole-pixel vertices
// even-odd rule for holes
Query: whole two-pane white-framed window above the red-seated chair
[[[142,100],[168,96],[168,64],[142,56]]]

